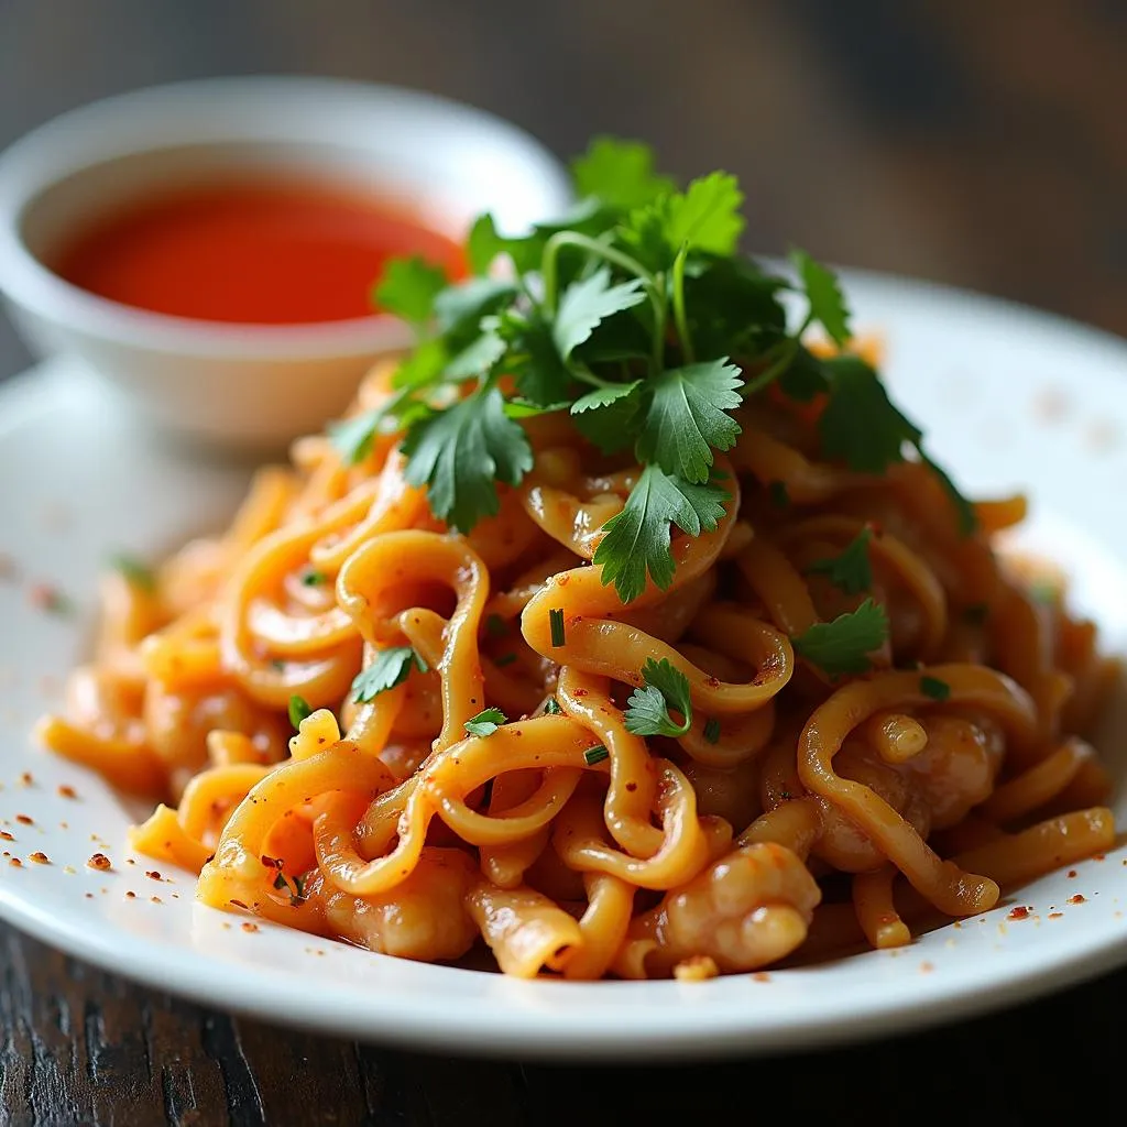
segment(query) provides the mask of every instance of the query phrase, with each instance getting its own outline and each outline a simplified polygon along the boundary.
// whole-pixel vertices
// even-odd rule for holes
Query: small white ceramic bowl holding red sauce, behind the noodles
[[[0,156],[0,293],[29,347],[78,356],[151,421],[227,446],[278,446],[341,411],[367,366],[410,343],[402,322],[195,321],[107,301],[43,265],[104,210],[255,169],[409,202],[458,239],[480,212],[517,233],[571,198],[564,168],[535,140],[428,94],[233,78],[109,98]]]

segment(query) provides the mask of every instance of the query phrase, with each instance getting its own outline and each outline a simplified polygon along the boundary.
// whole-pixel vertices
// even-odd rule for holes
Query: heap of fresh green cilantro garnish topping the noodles
[[[525,420],[568,412],[601,454],[639,465],[593,559],[629,603],[648,580],[672,584],[674,525],[696,536],[724,517],[730,494],[715,455],[736,444],[734,412],[753,396],[781,394],[816,415],[831,462],[864,474],[924,462],[961,531],[974,531],[973,507],[928,458],[921,429],[849,352],[850,312],[834,274],[793,250],[791,282],[737,254],[744,197],[735,177],[711,172],[678,190],[654,171],[646,145],[610,137],[594,141],[573,174],[580,199],[556,222],[507,238],[490,215],[477,220],[467,281],[450,284],[420,258],[388,265],[376,301],[416,326],[418,344],[384,403],[330,428],[346,461],[367,458],[378,432],[401,433],[407,480],[426,487],[436,517],[469,532],[498,512],[498,483],[520,485],[532,469]],[[797,325],[788,323],[788,292],[805,305]],[[811,350],[811,329],[837,353]],[[777,485],[772,500],[788,504]],[[866,549],[862,540],[827,561],[829,579],[857,587]],[[866,655],[887,632],[870,600],[793,641],[836,675],[868,668]]]

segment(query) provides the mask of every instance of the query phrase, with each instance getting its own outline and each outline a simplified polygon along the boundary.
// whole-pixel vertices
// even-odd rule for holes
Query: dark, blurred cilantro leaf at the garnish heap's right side
[[[888,392],[859,356],[835,356],[823,363],[829,380],[829,402],[818,418],[823,452],[859,473],[884,473],[904,461],[904,444],[922,432],[893,406]]]

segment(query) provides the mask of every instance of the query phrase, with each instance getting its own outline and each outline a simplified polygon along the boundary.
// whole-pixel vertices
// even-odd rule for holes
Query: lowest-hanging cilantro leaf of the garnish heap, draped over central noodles
[[[594,557],[603,569],[602,582],[613,583],[623,603],[646,589],[647,575],[663,591],[668,588],[674,573],[671,523],[690,536],[711,532],[729,499],[713,485],[694,485],[647,465],[622,512],[603,525],[605,534]]]

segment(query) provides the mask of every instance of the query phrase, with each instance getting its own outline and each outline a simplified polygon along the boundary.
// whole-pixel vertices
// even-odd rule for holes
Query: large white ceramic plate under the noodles
[[[1127,651],[1127,344],[979,296],[860,274],[846,282],[859,323],[886,336],[889,382],[937,456],[976,492],[1029,488],[1027,540],[1062,560],[1106,644]],[[16,838],[0,845],[24,861],[0,863],[0,915],[41,939],[161,990],[327,1033],[601,1059],[858,1039],[1127,962],[1124,848],[902,951],[766,980],[529,983],[393,960],[265,923],[242,931],[239,917],[194,902],[188,875],[160,864],[156,881],[145,876],[152,862],[130,864],[126,827],[143,811],[34,748],[27,731],[83,654],[106,556],[157,553],[215,526],[245,479],[131,429],[64,366],[0,392],[0,552],[20,573],[0,580],[0,827]],[[56,584],[78,613],[34,610],[35,582]],[[1117,772],[1125,743],[1127,716],[1104,740]],[[30,786],[20,782],[25,771]],[[78,799],[60,796],[61,783]],[[87,867],[96,850],[113,871]],[[51,864],[30,862],[33,851]],[[1068,903],[1077,894],[1083,900]],[[1032,908],[1029,919],[1006,920],[1015,903]]]

